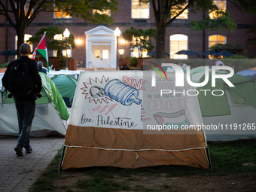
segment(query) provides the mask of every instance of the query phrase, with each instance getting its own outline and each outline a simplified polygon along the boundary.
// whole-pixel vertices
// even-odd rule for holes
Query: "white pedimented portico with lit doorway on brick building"
[[[105,26],[97,26],[86,35],[86,67],[87,68],[116,68],[117,39],[114,30]]]

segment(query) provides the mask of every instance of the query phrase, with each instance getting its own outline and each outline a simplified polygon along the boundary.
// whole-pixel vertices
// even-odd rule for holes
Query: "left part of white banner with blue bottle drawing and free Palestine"
[[[81,72],[70,123],[142,130],[142,72]]]

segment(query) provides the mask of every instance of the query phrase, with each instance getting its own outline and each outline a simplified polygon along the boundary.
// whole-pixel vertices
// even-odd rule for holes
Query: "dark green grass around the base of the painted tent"
[[[120,169],[114,167],[91,167],[76,169],[86,175],[86,178],[77,178],[72,187],[63,184],[56,185],[56,181],[64,181],[62,171],[58,173],[59,161],[62,149],[52,160],[41,177],[35,181],[30,191],[184,191],[172,188],[163,181],[161,188],[143,187],[138,179],[157,178],[164,175],[164,178],[175,179],[177,177],[211,177],[216,175],[239,175],[249,174],[256,171],[256,141],[236,142],[209,142],[209,153],[212,161],[212,170],[194,169],[189,167],[156,166],[142,169]],[[72,175],[69,175],[72,177]],[[152,178],[152,179],[154,179]],[[142,180],[143,180],[142,179]],[[139,181],[140,182],[140,181]]]

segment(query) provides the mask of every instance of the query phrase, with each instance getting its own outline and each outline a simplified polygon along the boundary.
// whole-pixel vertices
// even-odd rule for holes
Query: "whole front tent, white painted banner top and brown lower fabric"
[[[167,76],[169,82],[164,83],[175,90],[174,74]],[[167,165],[209,169],[203,130],[181,130],[202,123],[197,96],[160,98],[162,83],[151,87],[151,72],[81,72],[62,169]],[[177,130],[160,130],[165,126]]]

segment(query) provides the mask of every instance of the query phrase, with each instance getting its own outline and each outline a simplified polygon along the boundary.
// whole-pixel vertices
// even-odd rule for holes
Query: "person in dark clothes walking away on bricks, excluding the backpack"
[[[14,101],[17,109],[17,118],[18,118],[18,126],[19,126],[19,138],[17,142],[17,146],[14,148],[18,156],[23,155],[23,148],[25,148],[26,153],[31,153],[32,148],[29,145],[29,133],[31,131],[32,120],[35,116],[35,100],[38,98],[41,92],[41,77],[38,74],[38,66],[37,62],[34,59],[29,59],[30,45],[23,43],[20,45],[20,57],[11,61],[8,64],[8,68],[6,69],[5,75],[2,78],[2,85],[7,90],[11,90],[10,87],[10,76],[11,70],[17,70],[20,65],[22,66],[24,63],[27,65],[27,71],[29,77],[29,84],[32,84],[32,91],[30,90],[26,96],[14,95]],[[12,68],[12,66],[15,66]],[[15,90],[13,91],[13,93]],[[11,91],[10,91],[11,93]]]

